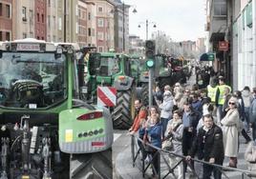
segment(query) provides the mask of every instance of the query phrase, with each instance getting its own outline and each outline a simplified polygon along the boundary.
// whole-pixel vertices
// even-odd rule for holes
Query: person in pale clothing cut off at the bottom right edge
[[[250,142],[245,149],[245,161],[248,162],[248,170],[256,173],[256,141]],[[256,175],[251,178],[256,178]]]

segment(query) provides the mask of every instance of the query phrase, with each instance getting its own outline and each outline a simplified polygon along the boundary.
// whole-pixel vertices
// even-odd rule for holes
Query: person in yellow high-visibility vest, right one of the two
[[[229,92],[231,92],[231,87],[229,87],[228,85],[226,85],[224,83],[224,77],[223,76],[219,76],[219,86],[217,89],[217,94],[216,94],[216,107],[217,107],[217,118],[218,118],[218,123],[220,123],[220,121],[222,120],[222,110],[223,110],[223,106],[224,106],[224,92],[225,92],[225,88],[229,89]]]

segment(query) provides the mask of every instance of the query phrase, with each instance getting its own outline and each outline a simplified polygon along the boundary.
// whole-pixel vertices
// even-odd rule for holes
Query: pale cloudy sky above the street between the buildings
[[[197,40],[205,37],[205,0],[122,0],[130,8],[130,34],[146,38],[157,30],[164,31],[174,41]],[[136,8],[137,13],[132,11]],[[157,28],[153,28],[156,23]],[[140,28],[138,26],[140,25]]]

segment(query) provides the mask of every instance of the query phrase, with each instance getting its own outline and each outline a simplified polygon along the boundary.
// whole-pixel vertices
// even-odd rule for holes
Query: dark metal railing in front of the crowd
[[[148,143],[144,143],[143,140],[141,140],[139,137],[137,137],[135,135],[132,135],[131,139],[132,139],[131,152],[132,152],[133,167],[136,166],[136,162],[139,159],[139,153],[141,152],[142,157],[139,160],[141,160],[141,172],[142,172],[143,178],[145,177],[146,171],[148,169],[150,169],[150,166],[152,167],[154,172],[157,173],[158,178],[166,178],[170,174],[172,174],[173,178],[177,178],[177,176],[175,175],[175,169],[181,163],[182,163],[182,165],[186,164],[189,167],[189,169],[192,171],[192,174],[194,174],[194,176],[198,177],[195,169],[191,166],[191,164],[189,162],[186,161],[185,156],[177,154],[177,153],[173,153],[173,152],[165,150],[165,149],[156,148]],[[155,150],[155,152],[154,152],[153,156],[150,157],[150,160],[148,161],[148,163],[145,163],[144,156],[146,154],[148,154],[148,151],[146,151],[147,149],[153,149],[153,150]],[[181,158],[181,161],[178,162],[177,164],[175,164],[173,167],[171,167],[168,163],[169,156],[179,157],[179,158]],[[161,169],[161,166],[160,166],[161,159],[163,160],[164,164],[167,166],[167,170]],[[158,170],[155,169],[155,167],[153,165],[154,160],[158,161],[158,166],[159,166]],[[251,172],[249,170],[224,167],[224,166],[220,166],[220,165],[216,165],[216,164],[211,164],[211,163],[208,163],[203,160],[196,159],[196,158],[191,158],[191,161],[194,161],[194,162],[197,162],[197,163],[200,163],[203,165],[212,166],[215,169],[218,169],[219,171],[221,171],[225,178],[230,178],[226,174],[227,171],[237,171],[237,172],[241,173],[241,179],[245,179],[245,176],[246,176],[246,178],[256,177],[256,173]],[[163,172],[165,172],[165,173],[163,174]],[[185,179],[185,169],[183,169],[183,179]]]

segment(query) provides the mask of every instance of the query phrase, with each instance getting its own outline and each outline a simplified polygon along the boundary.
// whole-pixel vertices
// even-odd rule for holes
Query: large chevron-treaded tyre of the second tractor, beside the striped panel
[[[123,90],[117,92],[117,105],[112,112],[115,129],[129,129],[133,124],[136,92]]]

